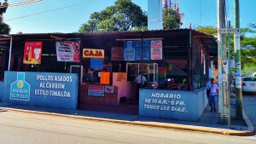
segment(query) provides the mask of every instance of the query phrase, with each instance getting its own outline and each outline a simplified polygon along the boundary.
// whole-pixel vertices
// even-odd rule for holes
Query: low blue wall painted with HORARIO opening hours
[[[139,115],[198,121],[206,107],[204,91],[140,89]]]

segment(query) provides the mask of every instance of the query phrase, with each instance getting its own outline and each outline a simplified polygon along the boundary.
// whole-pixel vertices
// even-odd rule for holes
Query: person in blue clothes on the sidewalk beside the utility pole
[[[210,89],[208,101],[209,106],[211,107],[211,112],[216,112],[216,104],[218,100],[218,84],[214,83],[214,78],[211,78],[211,83],[207,84],[207,89]]]

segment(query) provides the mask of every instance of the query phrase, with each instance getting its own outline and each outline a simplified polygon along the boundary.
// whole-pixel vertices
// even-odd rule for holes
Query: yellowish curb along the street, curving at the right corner
[[[173,129],[173,130],[189,130],[189,131],[205,132],[205,133],[220,134],[220,135],[247,136],[247,135],[252,135],[254,132],[253,124],[251,123],[249,118],[247,118],[247,115],[245,114],[244,111],[243,111],[243,117],[245,118],[248,129],[245,131],[238,131],[238,130],[207,128],[207,127],[194,126],[194,125],[183,125],[183,124],[161,124],[157,122],[148,123],[148,122],[141,122],[141,121],[127,121],[127,120],[117,120],[117,119],[109,119],[109,118],[93,118],[93,117],[76,116],[76,115],[70,115],[70,114],[60,114],[60,113],[54,113],[54,112],[38,112],[38,111],[30,111],[30,110],[21,110],[21,109],[8,108],[8,107],[0,107],[0,109],[5,111],[29,112],[29,113],[35,113],[35,114],[59,116],[59,117],[66,117],[66,118],[79,118],[79,119],[111,122],[111,123],[118,123],[118,124],[134,124],[134,125],[141,125],[141,126],[148,126],[148,127],[155,127],[155,128]]]

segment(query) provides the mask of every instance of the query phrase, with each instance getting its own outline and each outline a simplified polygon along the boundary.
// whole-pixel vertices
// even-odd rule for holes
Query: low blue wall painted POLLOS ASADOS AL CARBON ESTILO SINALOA
[[[75,73],[5,72],[4,102],[62,109],[77,109]]]

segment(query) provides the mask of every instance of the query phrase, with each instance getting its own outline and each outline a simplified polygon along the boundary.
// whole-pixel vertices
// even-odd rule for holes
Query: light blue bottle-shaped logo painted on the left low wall
[[[30,84],[25,81],[25,72],[17,72],[17,80],[10,87],[10,100],[30,100]]]

